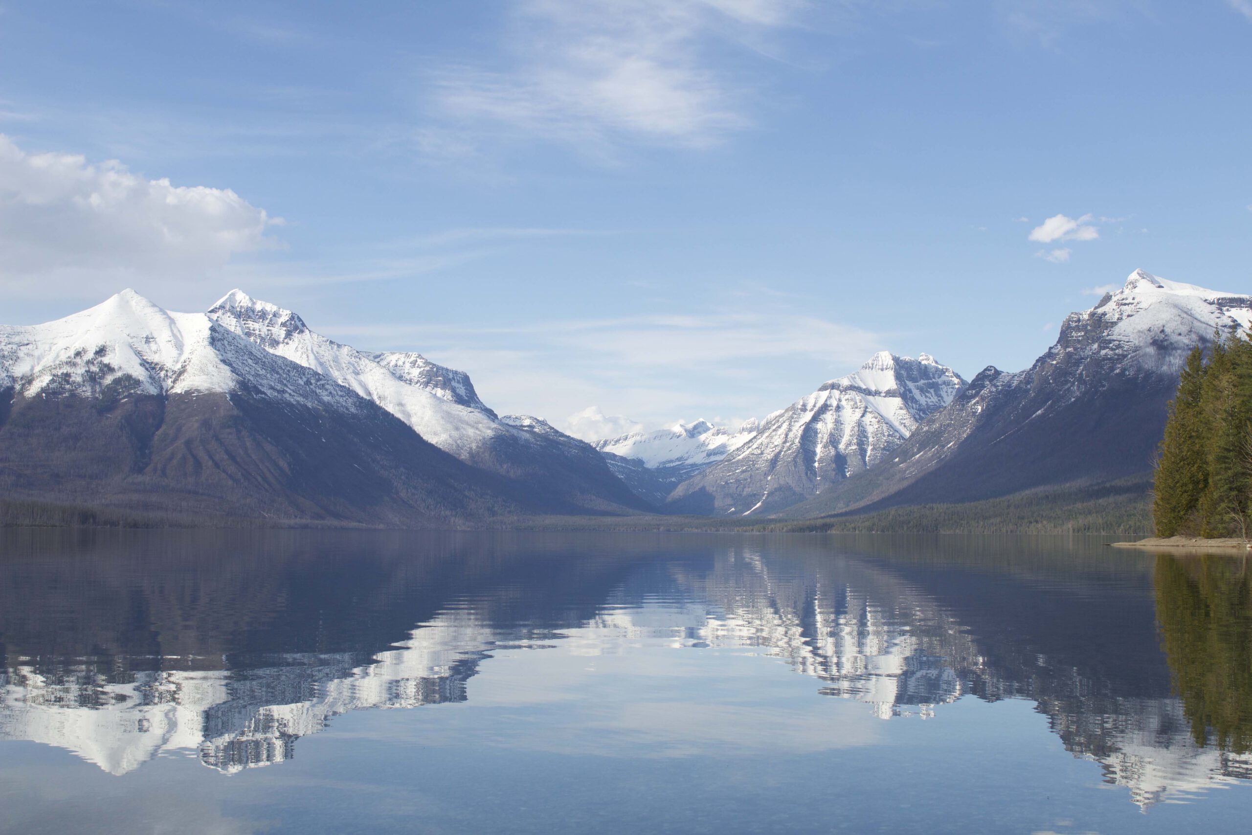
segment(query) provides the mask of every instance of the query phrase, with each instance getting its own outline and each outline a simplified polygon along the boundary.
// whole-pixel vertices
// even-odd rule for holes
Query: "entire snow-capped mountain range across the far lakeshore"
[[[1187,353],[1249,324],[1249,295],[1136,270],[1024,371],[965,381],[880,352],[764,419],[592,444],[497,414],[464,372],[337,343],[240,290],[204,313],[124,290],[0,325],[0,494],[10,518],[49,522],[388,527],[1146,497]]]

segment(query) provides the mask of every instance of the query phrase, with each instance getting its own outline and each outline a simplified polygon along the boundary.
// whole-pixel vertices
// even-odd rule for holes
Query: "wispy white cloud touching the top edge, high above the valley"
[[[570,141],[607,155],[617,140],[706,146],[751,124],[747,90],[706,46],[776,30],[800,0],[526,0],[511,65],[443,66],[437,110],[461,124]],[[458,145],[459,146],[459,145]]]

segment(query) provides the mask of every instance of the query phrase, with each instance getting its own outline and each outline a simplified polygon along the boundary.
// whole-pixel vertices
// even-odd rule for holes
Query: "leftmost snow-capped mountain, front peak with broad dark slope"
[[[133,290],[56,322],[0,325],[0,492],[412,526],[525,507],[372,401]]]

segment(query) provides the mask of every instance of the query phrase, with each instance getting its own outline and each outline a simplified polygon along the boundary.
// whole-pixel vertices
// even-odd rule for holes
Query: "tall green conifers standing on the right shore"
[[[1216,338],[1187,358],[1157,462],[1157,536],[1252,533],[1252,342]]]

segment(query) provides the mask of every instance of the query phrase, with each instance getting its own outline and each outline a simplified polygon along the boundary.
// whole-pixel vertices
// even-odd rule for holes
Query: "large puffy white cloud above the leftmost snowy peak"
[[[277,245],[270,218],[230,189],[149,180],[116,160],[29,154],[0,134],[0,288],[114,292],[136,277],[193,280]]]

